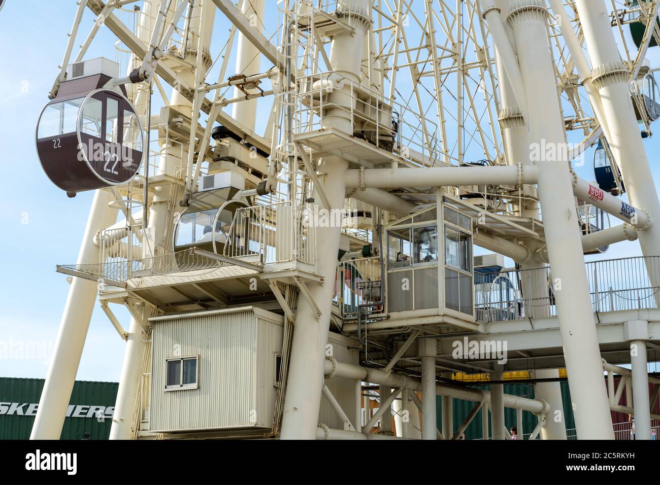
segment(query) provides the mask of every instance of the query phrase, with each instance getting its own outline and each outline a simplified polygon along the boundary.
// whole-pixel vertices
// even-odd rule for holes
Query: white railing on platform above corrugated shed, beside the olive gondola
[[[281,202],[238,209],[224,246],[227,257],[259,265],[316,265],[313,205]]]

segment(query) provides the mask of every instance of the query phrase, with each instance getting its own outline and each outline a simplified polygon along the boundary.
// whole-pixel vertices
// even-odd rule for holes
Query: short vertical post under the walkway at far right
[[[635,439],[651,439],[649,374],[645,340],[630,342],[632,368],[632,407],[635,410]],[[630,403],[626,403],[630,406]]]

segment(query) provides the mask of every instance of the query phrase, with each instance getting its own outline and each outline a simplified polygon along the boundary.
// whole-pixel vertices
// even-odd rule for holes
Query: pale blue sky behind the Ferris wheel
[[[45,342],[48,348],[55,341],[69,290],[65,276],[55,273],[55,265],[75,263],[92,193],[68,199],[50,183],[36,157],[34,129],[48,101],[77,5],[74,0],[6,3],[0,11],[0,45],[4,46],[0,56],[0,160],[7,170],[0,203],[4,234],[0,239],[0,342]],[[216,28],[226,28],[219,12],[217,17]],[[92,22],[89,12],[84,18],[82,36]],[[102,28],[86,57],[105,55],[112,59],[108,46],[114,40]],[[217,51],[213,51],[214,57]],[[653,58],[653,65],[660,65],[657,53]],[[233,65],[232,60],[228,73]],[[267,112],[259,118],[264,123]],[[656,179],[660,179],[657,140],[645,144]],[[578,172],[585,179],[593,179],[590,161]],[[606,257],[637,254],[637,243],[622,243]],[[127,327],[127,313],[117,311],[117,315]],[[123,348],[123,340],[97,304],[77,378],[117,381]],[[0,375],[45,377],[47,358],[0,359]]]

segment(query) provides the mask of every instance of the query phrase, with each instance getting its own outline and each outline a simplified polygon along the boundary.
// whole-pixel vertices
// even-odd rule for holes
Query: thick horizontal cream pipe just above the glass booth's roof
[[[537,183],[539,168],[522,166],[368,168],[347,170],[347,187],[451,187]]]

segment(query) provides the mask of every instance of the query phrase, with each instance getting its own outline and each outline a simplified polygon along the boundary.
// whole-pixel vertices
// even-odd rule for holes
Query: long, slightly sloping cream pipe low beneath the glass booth
[[[361,379],[364,382],[374,384],[387,384],[391,387],[401,387],[402,389],[411,389],[421,391],[422,383],[420,379],[410,377],[409,375],[385,373],[380,369],[354,366],[343,362],[333,361],[333,358],[325,360],[326,377],[344,377],[345,379]],[[482,389],[473,389],[471,387],[461,387],[454,384],[436,383],[436,395],[449,396],[454,399],[463,399],[473,403],[490,403],[490,393]],[[525,397],[504,395],[504,407],[521,408],[525,411],[539,414],[545,412],[547,404],[539,399],[527,399]]]

